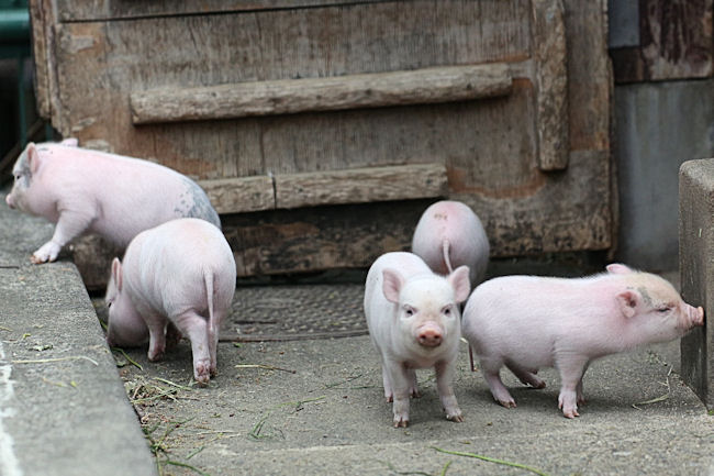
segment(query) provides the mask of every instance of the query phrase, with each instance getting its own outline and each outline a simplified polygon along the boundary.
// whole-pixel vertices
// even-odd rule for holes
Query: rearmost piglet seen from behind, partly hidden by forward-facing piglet
[[[489,263],[489,239],[476,213],[460,201],[443,200],[429,206],[422,214],[412,252],[434,273],[447,275],[466,265],[471,286],[486,277]]]

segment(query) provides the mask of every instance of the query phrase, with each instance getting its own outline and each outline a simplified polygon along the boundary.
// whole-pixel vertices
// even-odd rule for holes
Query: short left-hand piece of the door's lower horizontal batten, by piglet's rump
[[[276,208],[272,179],[268,176],[200,180],[219,213],[242,213]]]

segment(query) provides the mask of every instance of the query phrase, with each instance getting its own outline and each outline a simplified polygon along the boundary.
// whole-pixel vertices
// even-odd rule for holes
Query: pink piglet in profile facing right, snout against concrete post
[[[546,386],[538,369],[556,367],[558,407],[573,418],[585,401],[582,377],[593,359],[678,339],[703,323],[704,310],[684,302],[667,280],[612,264],[585,278],[488,280],[469,298],[462,331],[499,403],[515,407],[499,375],[502,366],[535,388]]]

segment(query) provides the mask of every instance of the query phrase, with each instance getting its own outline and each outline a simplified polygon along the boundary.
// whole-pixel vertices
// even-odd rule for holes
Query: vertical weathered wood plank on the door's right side
[[[560,0],[533,0],[536,65],[538,167],[568,166],[568,64],[565,11]]]

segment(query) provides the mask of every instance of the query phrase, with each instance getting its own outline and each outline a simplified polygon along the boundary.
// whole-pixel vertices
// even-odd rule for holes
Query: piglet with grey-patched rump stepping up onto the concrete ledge
[[[62,143],[27,144],[13,169],[10,208],[57,223],[31,257],[52,262],[69,241],[94,232],[124,248],[137,233],[176,218],[221,226],[205,192],[188,177],[147,160]]]

